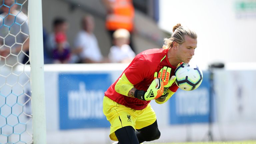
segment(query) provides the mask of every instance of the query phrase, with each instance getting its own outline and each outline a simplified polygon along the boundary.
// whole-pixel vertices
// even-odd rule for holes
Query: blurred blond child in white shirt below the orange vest
[[[109,60],[112,63],[130,63],[135,53],[129,46],[130,33],[126,29],[118,29],[113,33],[113,46],[110,48]]]

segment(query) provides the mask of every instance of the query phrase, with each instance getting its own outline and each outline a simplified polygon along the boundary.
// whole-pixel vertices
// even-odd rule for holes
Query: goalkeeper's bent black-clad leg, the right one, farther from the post
[[[160,138],[160,131],[158,129],[157,121],[153,124],[146,126],[142,129],[137,129],[136,131],[137,138],[139,143],[144,141],[153,141]]]

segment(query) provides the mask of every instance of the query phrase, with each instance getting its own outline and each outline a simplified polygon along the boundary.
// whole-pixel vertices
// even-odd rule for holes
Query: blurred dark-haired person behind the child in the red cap
[[[64,18],[57,17],[53,20],[53,33],[51,33],[47,38],[45,53],[49,53],[49,54],[52,53],[52,51],[57,47],[55,35],[57,33],[64,33],[66,35],[67,29],[68,29],[68,23]],[[63,45],[64,47],[70,47],[68,41],[65,41]],[[50,57],[53,58],[52,55]]]

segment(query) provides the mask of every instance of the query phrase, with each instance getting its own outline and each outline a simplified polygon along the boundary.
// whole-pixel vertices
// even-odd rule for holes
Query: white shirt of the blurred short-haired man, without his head
[[[103,59],[94,34],[89,34],[84,30],[80,31],[75,39],[75,47],[83,48],[83,51],[79,54],[82,59],[87,58],[96,62],[100,62]]]

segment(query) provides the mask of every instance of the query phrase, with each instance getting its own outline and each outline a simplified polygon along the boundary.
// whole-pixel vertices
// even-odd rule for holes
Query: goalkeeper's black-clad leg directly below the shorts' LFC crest
[[[139,144],[132,126],[125,126],[115,131],[118,144]]]

